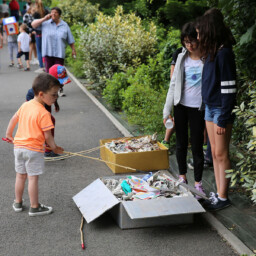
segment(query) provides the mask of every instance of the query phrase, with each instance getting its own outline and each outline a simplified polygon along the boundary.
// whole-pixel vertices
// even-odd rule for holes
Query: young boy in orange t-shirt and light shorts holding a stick
[[[63,148],[55,144],[51,134],[54,125],[51,114],[44,104],[52,105],[58,98],[60,83],[55,77],[42,73],[33,82],[35,97],[25,102],[11,118],[6,130],[6,138],[14,144],[15,156],[15,212],[23,210],[22,196],[26,179],[28,179],[28,194],[30,199],[29,216],[45,215],[52,212],[52,207],[38,202],[38,179],[44,172],[45,141],[54,153],[62,154]],[[18,129],[13,139],[13,130],[18,123]]]

